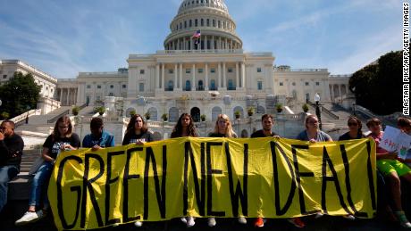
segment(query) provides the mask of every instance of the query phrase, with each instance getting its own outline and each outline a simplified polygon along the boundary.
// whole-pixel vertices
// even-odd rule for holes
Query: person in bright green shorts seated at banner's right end
[[[370,129],[370,137],[373,138],[377,144],[377,168],[382,172],[382,175],[388,179],[390,185],[391,195],[393,199],[394,214],[397,217],[401,227],[411,228],[411,223],[408,221],[401,204],[401,181],[399,177],[406,179],[411,183],[411,169],[407,164],[398,161],[398,153],[390,153],[380,147],[382,141],[382,126],[381,121],[373,118],[366,123]]]

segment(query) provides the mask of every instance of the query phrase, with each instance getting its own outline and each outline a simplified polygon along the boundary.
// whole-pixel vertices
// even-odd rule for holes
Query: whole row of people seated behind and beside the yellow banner
[[[262,128],[254,132],[251,137],[277,136],[273,132],[273,116],[264,114],[262,117]],[[306,129],[296,137],[298,140],[316,142],[331,142],[331,136],[319,129],[319,121],[315,115],[308,115],[305,120]],[[400,177],[411,183],[411,169],[407,166],[407,161],[398,158],[398,153],[390,153],[379,147],[382,139],[382,123],[378,119],[369,120],[366,126],[371,131],[372,137],[377,144],[377,175],[379,188],[379,198],[391,198],[392,202],[384,203],[384,210],[392,215],[393,219],[397,219],[402,227],[411,228],[407,217],[401,206],[401,188]],[[7,183],[15,177],[20,170],[21,154],[24,147],[24,142],[21,136],[14,133],[14,123],[10,120],[5,120],[1,124],[0,130],[0,210],[3,209],[7,202]],[[362,131],[361,120],[356,117],[348,119],[349,131],[340,136],[339,140],[350,140],[364,138]],[[401,131],[411,134],[411,120],[407,118],[398,119],[398,128]],[[84,137],[82,147],[91,148],[96,151],[105,147],[114,146],[114,137],[104,129],[104,123],[101,118],[93,118],[90,122],[91,134]],[[172,130],[171,137],[197,137],[197,130],[194,121],[188,113],[183,113]],[[220,114],[215,121],[214,131],[209,134],[209,137],[230,137],[236,138],[237,134],[232,129],[231,120],[225,114]],[[141,115],[133,115],[130,123],[127,126],[126,133],[122,140],[122,144],[145,144],[154,141],[155,138],[151,131],[147,128],[147,122]],[[39,166],[30,186],[29,194],[29,209],[18,219],[16,225],[24,225],[30,222],[37,221],[46,216],[49,204],[46,196],[46,186],[51,177],[55,159],[62,151],[76,150],[80,148],[80,137],[73,132],[71,120],[68,116],[63,116],[55,123],[53,133],[46,138],[43,144],[43,163]],[[385,186],[385,187],[384,187]],[[385,189],[384,189],[385,188]],[[382,200],[384,201],[384,200]],[[322,213],[315,214],[315,218],[322,217]],[[353,214],[344,216],[346,219],[356,219]],[[288,219],[295,227],[305,227],[306,224],[302,219]],[[181,221],[187,227],[195,226],[195,218],[183,217]],[[264,218],[256,218],[254,225],[256,227],[264,227]],[[239,218],[240,224],[247,224],[247,219]],[[209,227],[216,225],[215,218],[208,218],[207,224]],[[135,222],[137,227],[141,227],[141,221]]]

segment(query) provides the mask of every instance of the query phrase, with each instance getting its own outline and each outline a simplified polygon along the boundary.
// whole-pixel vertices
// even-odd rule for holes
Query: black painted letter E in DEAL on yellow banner
[[[312,210],[306,211],[306,201],[304,200],[304,192],[301,186],[301,177],[314,177],[314,172],[300,172],[298,167],[298,159],[297,159],[297,149],[304,149],[308,150],[308,145],[291,145],[292,156],[294,161],[294,169],[296,171],[296,179],[297,179],[297,186],[298,186],[298,198],[299,198],[299,208],[301,210],[301,214],[314,214],[319,210]]]

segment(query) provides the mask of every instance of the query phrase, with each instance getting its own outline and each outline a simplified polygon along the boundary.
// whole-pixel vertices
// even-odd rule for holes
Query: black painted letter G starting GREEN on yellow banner
[[[62,180],[63,180],[64,164],[65,162],[70,161],[70,160],[78,161],[79,163],[83,162],[81,158],[78,156],[68,156],[68,157],[65,157],[63,161],[60,161],[60,165],[58,168],[58,174],[57,174],[57,180],[56,180],[57,211],[58,211],[58,216],[60,220],[62,221],[62,226],[64,229],[71,229],[76,225],[77,219],[79,218],[80,200],[81,200],[81,186],[71,186],[71,192],[77,192],[76,216],[74,217],[74,221],[70,225],[67,224],[67,220],[64,217],[64,210],[63,210]]]

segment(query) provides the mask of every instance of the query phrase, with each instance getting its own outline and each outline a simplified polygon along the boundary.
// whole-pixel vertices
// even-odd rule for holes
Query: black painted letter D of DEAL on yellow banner
[[[280,200],[280,181],[278,177],[278,167],[277,167],[277,151],[275,149],[275,146],[278,147],[280,150],[280,153],[284,160],[287,162],[287,166],[289,167],[289,172],[291,173],[291,188],[289,189],[289,197],[287,198],[287,202],[285,202],[284,207],[281,208],[281,200]],[[289,210],[289,206],[291,206],[292,198],[294,197],[294,194],[296,192],[296,175],[294,173],[294,170],[292,169],[291,162],[289,161],[289,158],[287,157],[287,154],[284,153],[284,150],[282,150],[281,146],[277,144],[276,142],[270,142],[270,147],[271,147],[271,154],[272,154],[272,159],[273,159],[273,178],[274,178],[274,187],[275,187],[275,213],[278,216],[284,215],[287,213],[287,210]]]

